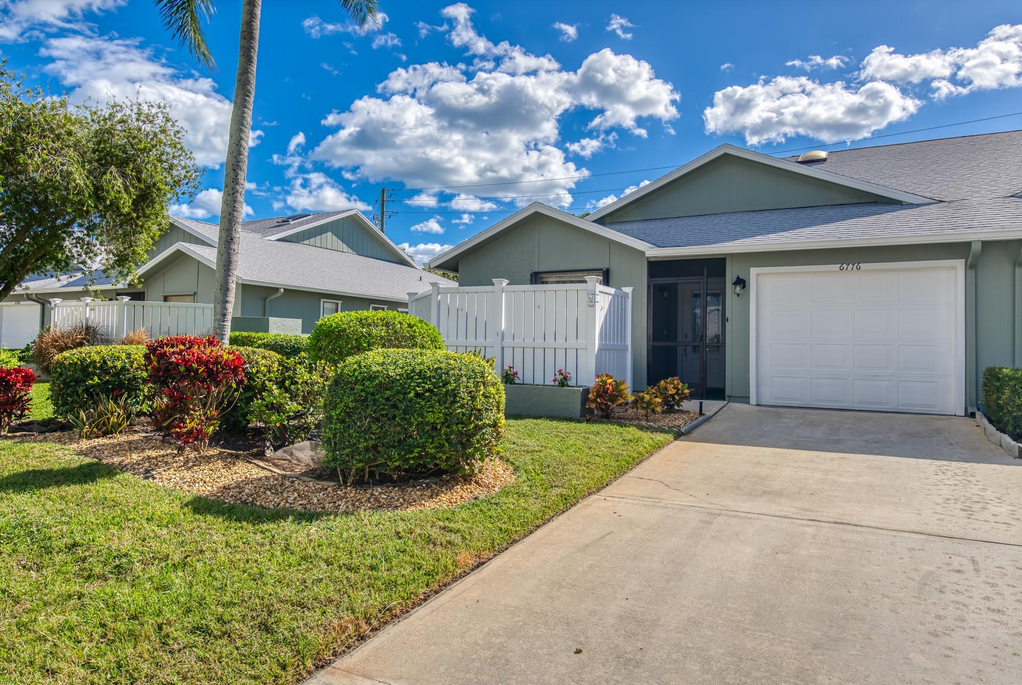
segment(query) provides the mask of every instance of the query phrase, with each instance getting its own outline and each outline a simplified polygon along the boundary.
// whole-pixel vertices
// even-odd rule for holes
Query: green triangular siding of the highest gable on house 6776
[[[600,217],[598,223],[890,201],[886,197],[795,172],[725,155],[647,197]]]

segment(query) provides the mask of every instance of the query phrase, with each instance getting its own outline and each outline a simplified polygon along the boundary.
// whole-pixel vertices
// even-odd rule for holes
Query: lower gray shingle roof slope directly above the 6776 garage
[[[1019,229],[1022,228],[1022,198],[930,204],[832,204],[648,219],[606,226],[658,247],[719,245],[727,249],[731,245],[765,245],[789,240]]]

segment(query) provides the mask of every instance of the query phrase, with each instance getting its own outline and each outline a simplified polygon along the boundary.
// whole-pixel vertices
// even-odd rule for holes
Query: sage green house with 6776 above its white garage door
[[[1020,192],[1020,131],[785,158],[722,145],[585,219],[529,204],[429,266],[634,286],[636,386],[963,414],[984,367],[1022,366]]]

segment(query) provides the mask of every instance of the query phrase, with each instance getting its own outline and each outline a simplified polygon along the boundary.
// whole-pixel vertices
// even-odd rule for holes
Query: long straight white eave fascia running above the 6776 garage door
[[[693,247],[656,247],[647,249],[646,257],[694,257],[700,255],[733,255],[738,253],[777,253],[796,249],[827,249],[831,247],[876,247],[881,245],[916,245],[969,240],[1017,240],[1022,229],[994,231],[955,231],[940,233],[912,233],[910,235],[883,235],[864,238],[820,238],[817,240],[785,240],[778,242],[742,242],[697,245]]]

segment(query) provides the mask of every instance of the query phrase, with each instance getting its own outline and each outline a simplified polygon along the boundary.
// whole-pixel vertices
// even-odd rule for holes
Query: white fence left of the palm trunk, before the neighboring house
[[[100,302],[82,298],[74,302],[50,300],[54,328],[66,328],[81,321],[97,324],[111,338],[145,328],[149,337],[158,335],[213,334],[213,305],[180,302],[131,301],[121,295],[117,301]]]

